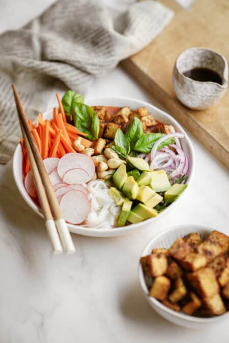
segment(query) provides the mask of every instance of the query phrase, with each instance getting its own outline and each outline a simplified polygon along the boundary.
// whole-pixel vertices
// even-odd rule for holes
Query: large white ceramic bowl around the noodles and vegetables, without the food
[[[104,106],[118,106],[118,107],[124,107],[124,106],[129,106],[132,109],[136,109],[142,106],[145,106],[150,113],[152,113],[156,119],[162,121],[165,124],[172,124],[175,129],[179,132],[185,133],[180,124],[169,114],[163,112],[159,108],[150,105],[144,101],[140,100],[135,100],[131,98],[122,98],[122,97],[109,97],[109,98],[96,98],[96,99],[86,99],[85,103],[87,103],[90,106],[93,105],[104,105]],[[52,111],[44,113],[44,118],[50,119],[52,117]],[[186,133],[185,133],[186,134]],[[195,164],[195,158],[194,158],[194,150],[192,147],[192,143],[190,139],[188,138],[187,134],[185,138],[182,139],[182,145],[183,149],[188,155],[189,161],[190,161],[190,173],[189,177],[187,180],[187,183],[190,185],[192,176],[193,176],[193,171],[194,171],[194,164]],[[14,174],[14,179],[17,185],[17,188],[19,192],[21,193],[22,197],[26,201],[26,203],[39,215],[42,215],[38,206],[33,202],[33,200],[30,198],[30,196],[27,194],[25,191],[24,185],[23,185],[23,180],[22,180],[22,151],[21,151],[21,146],[18,144],[16,147],[16,150],[14,152],[14,158],[13,158],[13,174]],[[185,192],[185,191],[184,191]],[[183,193],[184,193],[183,192]],[[167,213],[168,210],[171,210],[174,206],[178,206],[179,201],[181,201],[183,194],[180,195],[177,201],[172,203],[168,208],[166,208],[163,212],[159,214],[158,217],[161,215],[164,215]],[[147,224],[152,223],[153,221],[157,220],[157,218],[151,218],[148,219],[147,221],[144,221],[142,223],[138,224],[131,224],[128,226],[124,227],[119,227],[119,228],[112,228],[112,229],[95,229],[95,228],[84,228],[76,226],[76,225],[71,225],[68,224],[69,230],[73,233],[77,233],[80,235],[84,236],[91,236],[91,237],[114,237],[114,236],[120,236],[127,234],[131,232],[134,229],[144,227]]]

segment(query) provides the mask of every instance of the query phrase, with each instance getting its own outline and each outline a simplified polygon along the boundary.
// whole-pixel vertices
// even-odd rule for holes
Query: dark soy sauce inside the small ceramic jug
[[[183,74],[195,81],[211,81],[222,84],[222,78],[219,74],[208,68],[194,68],[184,72]]]

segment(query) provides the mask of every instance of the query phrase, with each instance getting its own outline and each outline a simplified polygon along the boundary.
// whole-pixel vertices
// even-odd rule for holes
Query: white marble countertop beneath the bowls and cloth
[[[31,13],[37,14],[30,12],[26,19]],[[2,22],[0,31],[4,27]],[[97,80],[87,93],[87,97],[116,95],[158,105],[121,68]],[[183,202],[154,226],[132,235],[109,239],[74,235],[73,256],[51,254],[42,219],[16,189],[12,163],[0,165],[1,343],[228,342],[226,322],[192,331],[165,321],[147,303],[138,283],[139,256],[157,232],[183,223],[191,230],[192,224],[201,223],[229,234],[228,171],[190,137],[196,169]]]

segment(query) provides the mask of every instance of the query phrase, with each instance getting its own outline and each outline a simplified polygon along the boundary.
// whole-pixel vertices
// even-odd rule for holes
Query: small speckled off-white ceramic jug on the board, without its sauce
[[[221,84],[196,81],[184,75],[195,68],[206,68],[219,75]],[[228,83],[226,59],[210,49],[190,48],[177,58],[173,72],[174,90],[178,99],[191,109],[205,109],[215,104],[224,94]]]

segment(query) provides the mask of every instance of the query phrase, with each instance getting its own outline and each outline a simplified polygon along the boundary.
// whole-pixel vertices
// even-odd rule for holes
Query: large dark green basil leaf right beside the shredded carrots
[[[97,139],[99,137],[99,118],[94,109],[73,100],[72,112],[76,128],[87,133],[87,138]]]

